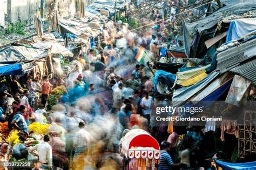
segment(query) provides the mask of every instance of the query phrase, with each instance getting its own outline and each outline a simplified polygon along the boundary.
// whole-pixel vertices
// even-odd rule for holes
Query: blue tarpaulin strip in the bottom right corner
[[[220,160],[215,160],[215,162],[218,166],[222,167],[225,170],[232,170],[232,169],[254,170],[254,169],[256,169],[256,161],[246,162],[246,163],[237,163],[237,164],[231,164],[231,163],[223,162]]]

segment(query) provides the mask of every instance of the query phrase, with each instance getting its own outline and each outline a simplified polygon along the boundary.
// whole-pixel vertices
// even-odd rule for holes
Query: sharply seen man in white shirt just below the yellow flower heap
[[[49,135],[44,135],[44,141],[29,149],[29,152],[37,151],[39,155],[39,162],[43,169],[52,169],[52,148],[48,143],[50,141]]]

